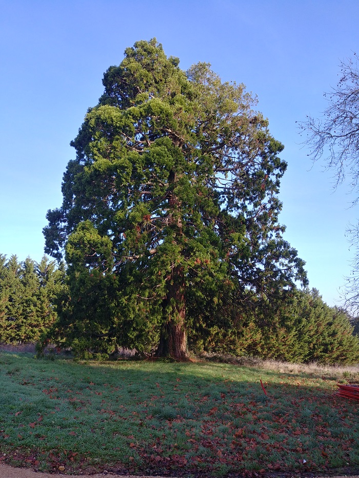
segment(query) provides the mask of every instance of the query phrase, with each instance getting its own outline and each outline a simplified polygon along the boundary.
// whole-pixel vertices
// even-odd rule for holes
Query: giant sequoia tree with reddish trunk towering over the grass
[[[278,223],[282,144],[243,85],[178,63],[152,39],[107,70],[47,215],[46,252],[68,263],[59,327],[89,346],[182,358],[197,314],[306,281]]]

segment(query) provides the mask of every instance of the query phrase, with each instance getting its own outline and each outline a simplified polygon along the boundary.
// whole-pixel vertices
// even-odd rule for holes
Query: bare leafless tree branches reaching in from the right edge
[[[324,93],[328,107],[321,118],[307,116],[300,123],[309,156],[325,160],[327,169],[335,172],[335,186],[350,180],[354,192],[353,205],[359,202],[359,59],[341,62],[340,80],[335,88]],[[347,235],[355,249],[352,274],[347,278],[344,298],[351,313],[359,311],[359,224],[350,226]]]

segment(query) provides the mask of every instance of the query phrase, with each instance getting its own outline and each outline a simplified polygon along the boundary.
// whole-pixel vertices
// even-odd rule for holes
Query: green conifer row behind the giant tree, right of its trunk
[[[228,309],[226,316],[229,317]],[[197,351],[231,352],[287,362],[359,362],[359,338],[344,310],[329,307],[316,289],[281,292],[276,301],[251,308],[238,304],[227,327],[201,327],[190,333]]]

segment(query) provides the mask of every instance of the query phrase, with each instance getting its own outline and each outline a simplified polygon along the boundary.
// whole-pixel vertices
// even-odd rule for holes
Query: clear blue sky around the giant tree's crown
[[[183,69],[208,61],[258,96],[285,144],[285,238],[334,305],[358,212],[345,186],[333,193],[331,174],[312,167],[295,121],[325,109],[340,60],[359,53],[358,19],[357,0],[1,0],[0,253],[41,258],[46,211],[61,205],[74,157],[69,142],[103,92],[104,71],[136,40],[156,37]]]

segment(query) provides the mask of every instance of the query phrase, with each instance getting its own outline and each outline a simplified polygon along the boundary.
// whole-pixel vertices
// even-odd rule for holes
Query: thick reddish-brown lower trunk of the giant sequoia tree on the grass
[[[187,358],[185,281],[181,267],[173,269],[164,299],[167,321],[162,325],[156,357]]]

